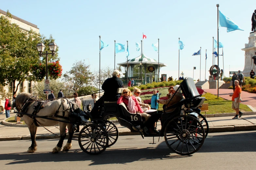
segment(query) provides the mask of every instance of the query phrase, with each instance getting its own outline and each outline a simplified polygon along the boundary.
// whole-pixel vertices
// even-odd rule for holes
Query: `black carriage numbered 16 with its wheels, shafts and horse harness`
[[[24,111],[17,113],[24,114],[28,116],[29,119],[32,118],[34,122],[40,122],[47,119],[48,121],[59,121],[60,123],[63,123],[63,126],[70,124],[71,128],[72,124],[84,125],[78,135],[78,143],[84,152],[91,155],[100,154],[107,149],[107,147],[110,147],[116,143],[118,139],[118,129],[112,121],[108,120],[110,117],[117,118],[120,125],[127,127],[131,132],[139,132],[143,138],[153,137],[154,140],[154,137],[162,136],[164,137],[167,146],[173,152],[180,155],[190,155],[202,147],[205,137],[208,134],[209,127],[207,120],[200,113],[193,111],[193,108],[197,108],[203,104],[205,98],[201,97],[201,95],[197,92],[194,80],[192,78],[185,78],[180,83],[179,88],[181,89],[185,98],[169,108],[164,108],[162,117],[160,119],[162,127],[158,135],[148,135],[145,133],[146,128],[137,129],[138,125],[143,125],[144,123],[142,116],[140,114],[132,114],[128,112],[123,103],[117,105],[116,102],[104,102],[99,109],[100,114],[97,116],[91,115],[89,112],[81,113],[79,109],[75,112],[69,110],[69,113],[66,114],[63,111],[68,111],[68,109],[72,109],[72,107],[64,108],[64,104],[62,104],[62,116],[68,117],[68,120],[65,121],[63,121],[63,117],[56,117],[56,115],[53,116],[53,118],[49,118],[49,116],[45,117],[39,115],[33,115],[32,117],[31,114],[25,113]],[[118,93],[121,93],[122,90],[122,88],[118,89]],[[176,94],[176,92],[173,94],[173,96]],[[165,112],[165,110],[170,108],[175,109],[172,112]],[[60,106],[57,109],[58,111],[55,113],[59,113],[59,109]],[[41,123],[39,125],[41,125]],[[63,151],[67,151],[69,148],[71,148],[71,140],[74,132],[73,129],[68,129],[69,139],[67,145],[63,148]],[[61,145],[57,145],[55,148],[55,151],[57,150],[57,152],[60,151],[65,137],[65,135],[61,135],[61,130],[60,136],[61,138],[59,143],[61,143]],[[34,145],[32,135],[31,139],[31,147],[33,149]]]

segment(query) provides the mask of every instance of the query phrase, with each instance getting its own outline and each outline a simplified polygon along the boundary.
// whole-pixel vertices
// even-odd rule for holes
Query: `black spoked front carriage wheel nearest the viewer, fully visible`
[[[88,124],[81,129],[78,143],[84,152],[90,155],[98,155],[108,147],[109,137],[102,126]]]

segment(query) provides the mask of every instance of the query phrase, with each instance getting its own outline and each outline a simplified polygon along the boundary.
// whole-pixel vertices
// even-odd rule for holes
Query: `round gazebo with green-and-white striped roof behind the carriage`
[[[130,59],[128,62],[126,61],[124,63],[118,63],[117,65],[125,67],[126,72],[128,67],[128,73],[126,75],[128,75],[129,79],[134,79],[135,85],[140,85],[141,79],[143,84],[152,83],[152,81],[158,82],[158,61],[148,58],[144,54],[142,54],[142,56],[140,55],[136,58]],[[165,66],[167,65],[164,63],[159,63],[160,68]]]

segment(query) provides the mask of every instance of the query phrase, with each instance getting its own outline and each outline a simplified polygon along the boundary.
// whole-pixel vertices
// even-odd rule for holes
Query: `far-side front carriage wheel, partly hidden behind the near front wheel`
[[[109,137],[109,146],[111,147],[112,145],[114,145],[118,139],[118,129],[116,127],[116,125],[112,122],[112,121],[107,121],[105,123],[103,123],[101,126],[103,126],[108,134]]]

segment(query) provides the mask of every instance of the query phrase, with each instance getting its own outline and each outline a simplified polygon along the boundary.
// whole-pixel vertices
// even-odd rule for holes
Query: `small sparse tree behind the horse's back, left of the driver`
[[[73,84],[73,92],[77,92],[79,88],[85,87],[91,80],[91,72],[89,65],[80,60],[73,64],[73,67],[63,75],[63,80]]]

